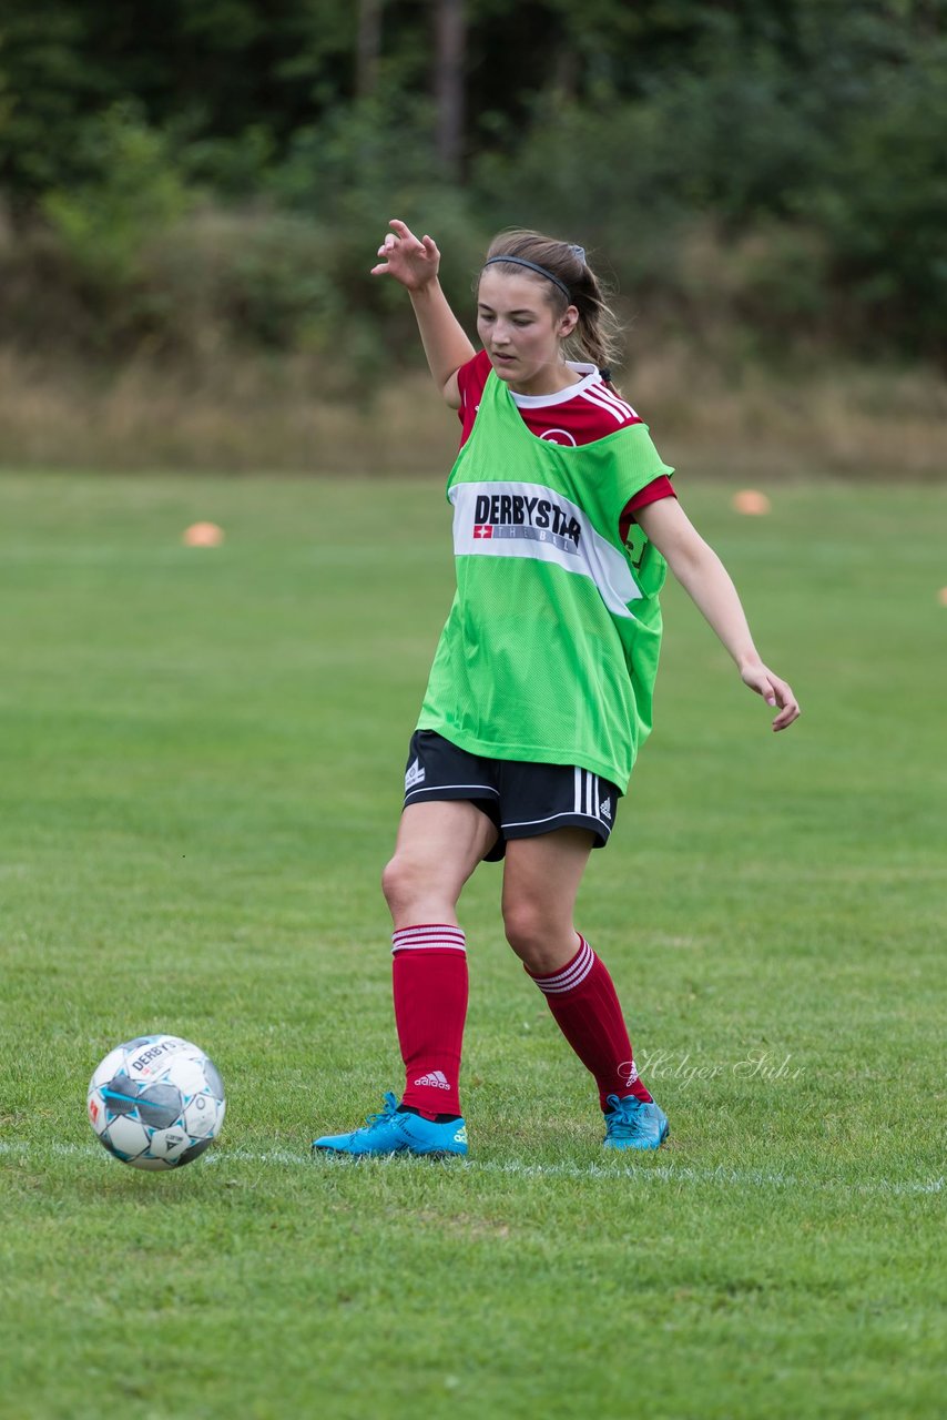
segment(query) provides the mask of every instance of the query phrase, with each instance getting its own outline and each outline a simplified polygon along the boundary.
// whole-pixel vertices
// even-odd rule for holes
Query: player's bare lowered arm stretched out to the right
[[[737,588],[714,550],[704,542],[676,498],[649,503],[635,517],[735,660],[744,684],[762,696],[768,706],[778,707],[772,728],[785,730],[798,719],[799,706],[791,686],[762,663]]]

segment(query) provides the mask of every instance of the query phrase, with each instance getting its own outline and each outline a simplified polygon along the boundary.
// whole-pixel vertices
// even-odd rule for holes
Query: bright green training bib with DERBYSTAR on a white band
[[[652,727],[666,564],[629,500],[669,474],[646,425],[579,447],[530,433],[491,371],[447,480],[457,592],[417,728],[571,764],[623,792]]]

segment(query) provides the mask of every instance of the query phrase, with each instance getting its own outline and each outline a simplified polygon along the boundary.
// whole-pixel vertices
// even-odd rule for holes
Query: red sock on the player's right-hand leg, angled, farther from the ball
[[[615,984],[585,937],[572,960],[552,976],[532,976],[555,1022],[586,1069],[595,1075],[602,1109],[608,1095],[650,1100],[637,1078],[632,1042]]]

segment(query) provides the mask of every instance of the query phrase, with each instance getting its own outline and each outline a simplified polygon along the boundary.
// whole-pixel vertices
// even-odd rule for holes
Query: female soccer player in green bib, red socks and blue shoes
[[[372,274],[409,291],[434,382],[461,420],[447,483],[457,594],[383,873],[405,1091],[388,1093],[365,1127],[312,1147],[467,1153],[457,902],[477,863],[504,859],[507,940],[595,1078],[605,1146],[657,1149],[667,1119],[572,912],[650,731],[666,567],[744,683],[777,709],[772,728],[799,707],[760,659],[730,577],[674,496],[673,470],[601,368],[615,322],[582,248],[534,231],[498,236],[477,288],[477,354],[439,285],[434,241],[390,226]]]

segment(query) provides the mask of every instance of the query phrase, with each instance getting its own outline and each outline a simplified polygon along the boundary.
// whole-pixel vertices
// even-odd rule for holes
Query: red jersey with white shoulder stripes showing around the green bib
[[[632,406],[611,385],[606,385],[595,365],[576,365],[572,361],[568,365],[569,369],[575,371],[578,381],[568,389],[559,389],[555,395],[517,395],[510,390],[527,429],[537,439],[576,447],[578,444],[595,443],[596,439],[605,439],[606,435],[613,435],[616,429],[625,429],[628,425],[642,423]],[[457,416],[461,426],[461,447],[470,437],[491,368],[490,356],[486,351],[480,351],[457,371],[460,389]],[[647,487],[635,494],[622,513],[622,537],[628,534],[629,524],[635,521],[637,508],[657,503],[659,498],[674,497],[677,494],[670,479],[660,477],[649,483]]]

